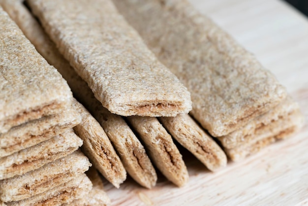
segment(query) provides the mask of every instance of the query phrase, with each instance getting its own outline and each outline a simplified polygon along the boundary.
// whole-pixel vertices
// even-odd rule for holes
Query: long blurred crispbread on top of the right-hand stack
[[[113,0],[158,60],[188,88],[192,116],[214,137],[286,97],[275,76],[186,0]]]

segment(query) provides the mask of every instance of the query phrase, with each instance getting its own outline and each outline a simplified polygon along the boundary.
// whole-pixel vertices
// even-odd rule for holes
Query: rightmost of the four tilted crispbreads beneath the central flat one
[[[209,170],[216,171],[227,165],[227,157],[223,150],[188,114],[160,117],[159,121],[173,138]]]

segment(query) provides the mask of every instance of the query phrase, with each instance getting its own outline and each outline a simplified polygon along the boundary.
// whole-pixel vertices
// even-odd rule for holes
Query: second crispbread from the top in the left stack
[[[0,158],[59,135],[80,121],[80,115],[69,108],[13,127],[0,134]]]

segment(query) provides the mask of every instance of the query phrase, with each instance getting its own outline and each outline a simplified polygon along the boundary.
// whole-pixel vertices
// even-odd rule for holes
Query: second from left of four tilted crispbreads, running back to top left
[[[59,53],[54,42],[45,34],[29,10],[19,0],[4,1],[6,2],[6,7],[4,8],[14,21],[17,22],[18,26],[30,39],[38,52],[59,70],[67,80],[74,96],[95,115],[95,118],[102,125],[109,139],[112,140],[129,175],[140,185],[147,188],[153,187],[157,180],[154,167],[143,145],[123,118],[110,113],[95,99],[88,84],[70,67],[69,63]],[[96,167],[99,168],[98,165]]]

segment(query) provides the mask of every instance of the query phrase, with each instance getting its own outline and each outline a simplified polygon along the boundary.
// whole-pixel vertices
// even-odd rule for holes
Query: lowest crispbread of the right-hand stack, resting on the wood
[[[265,146],[274,143],[279,139],[291,137],[300,130],[303,123],[304,117],[298,109],[292,114],[286,116],[284,119],[280,119],[276,123],[273,123],[273,127],[267,127],[267,131],[263,131],[266,135],[261,134],[262,138],[256,136],[255,139],[257,140],[241,144],[232,149],[225,149],[225,152],[233,161],[243,160],[245,157],[257,153]],[[277,130],[277,128],[279,129]]]

